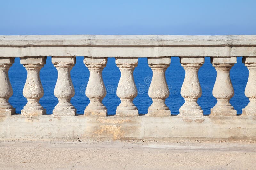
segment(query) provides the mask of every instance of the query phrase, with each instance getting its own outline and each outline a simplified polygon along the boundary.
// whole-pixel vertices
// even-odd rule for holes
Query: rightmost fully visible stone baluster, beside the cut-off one
[[[236,63],[236,57],[211,57],[211,63],[217,71],[216,81],[212,90],[212,95],[217,99],[217,103],[211,109],[211,116],[235,116],[236,110],[229,103],[229,100],[234,96],[229,71]]]

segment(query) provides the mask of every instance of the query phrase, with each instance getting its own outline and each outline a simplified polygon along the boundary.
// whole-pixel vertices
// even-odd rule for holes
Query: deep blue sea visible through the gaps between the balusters
[[[76,57],[76,65],[71,70],[71,78],[75,87],[75,96],[71,103],[76,107],[78,114],[83,114],[89,99],[85,96],[86,84],[89,80],[89,70],[83,63],[84,57]],[[248,103],[248,98],[244,95],[244,89],[248,80],[248,69],[242,63],[242,57],[237,57],[237,63],[230,71],[231,81],[235,90],[235,96],[230,103],[237,110],[238,114],[242,113]],[[108,58],[107,67],[104,68],[103,80],[107,89],[107,95],[102,101],[108,109],[108,114],[116,112],[116,107],[120,99],[116,96],[116,88],[120,78],[120,70],[116,67],[115,58]],[[148,88],[152,71],[148,67],[147,58],[139,58],[138,67],[134,70],[134,80],[138,88],[138,96],[134,99],[140,114],[146,114],[152,100],[148,96]],[[172,114],[179,114],[179,108],[184,103],[180,95],[180,89],[184,80],[185,71],[180,65],[179,57],[172,57],[170,67],[166,70],[166,81],[170,88],[170,96],[166,99],[166,105],[170,108]],[[210,57],[205,57],[204,65],[198,72],[199,81],[202,87],[202,96],[198,99],[198,104],[204,110],[204,114],[210,114],[210,109],[216,104],[216,99],[212,96],[212,89],[216,79],[216,71],[210,63]],[[57,81],[57,70],[51,62],[51,57],[47,57],[46,64],[40,71],[40,77],[44,88],[44,96],[40,103],[46,109],[47,114],[52,114],[54,106],[58,99],[53,95],[54,87]],[[22,90],[27,78],[27,71],[20,64],[20,59],[15,58],[15,63],[9,70],[9,78],[12,84],[13,96],[9,102],[16,112],[20,113],[23,106],[27,103],[26,98],[22,95]]]

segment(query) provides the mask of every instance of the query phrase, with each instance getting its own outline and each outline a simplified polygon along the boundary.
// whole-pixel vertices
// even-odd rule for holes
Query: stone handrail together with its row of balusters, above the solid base
[[[55,106],[52,115],[46,115],[46,110],[39,103],[40,98],[44,95],[39,73],[46,63],[46,56],[52,56],[52,64],[58,71],[54,96],[58,98],[59,103]],[[243,62],[249,70],[245,96],[249,98],[250,103],[243,109],[241,117],[251,117],[248,118],[250,121],[255,121],[256,119],[255,35],[0,36],[0,117],[15,117],[15,119],[18,119],[20,116],[16,114],[15,106],[8,102],[8,99],[13,94],[8,70],[14,63],[15,57],[20,57],[20,64],[23,64],[27,70],[23,96],[27,98],[28,102],[24,109],[21,110],[20,118],[75,117],[77,114],[76,108],[70,103],[70,99],[75,96],[70,70],[76,64],[76,56],[84,56],[84,64],[90,71],[85,91],[90,103],[88,106],[84,106],[84,116],[91,117],[89,118],[90,120],[92,117],[108,116],[107,109],[102,103],[103,98],[106,96],[102,70],[106,67],[109,57],[116,58],[116,66],[121,72],[116,91],[121,103],[116,108],[116,116],[113,117],[113,120],[117,122],[121,120],[130,121],[132,118],[138,120],[136,117],[139,116],[139,112],[133,103],[133,99],[137,96],[133,71],[138,65],[139,57],[148,58],[148,66],[153,72],[152,81],[148,89],[148,96],[152,99],[152,104],[148,108],[148,114],[144,117],[153,117],[150,120],[155,118],[158,122],[159,117],[166,118],[166,120],[173,119],[171,110],[165,104],[165,99],[170,93],[165,78],[165,76],[169,75],[165,75],[165,70],[170,66],[171,56],[180,57],[181,66],[185,70],[183,85],[180,89],[180,94],[185,102],[183,105],[180,103],[180,114],[177,117],[182,118],[185,122],[190,122],[190,120],[194,119],[195,122],[200,122],[208,119],[203,116],[203,110],[197,103],[197,99],[202,95],[198,70],[204,64],[205,56],[211,57],[212,66],[217,72],[212,90],[212,95],[216,98],[217,103],[211,109],[210,117],[222,117],[220,119],[223,119],[223,117],[236,117],[237,114],[241,114],[234,110],[229,100],[234,96],[234,89],[230,80],[230,69],[236,63],[236,57],[242,56]],[[130,118],[124,119],[125,117]],[[192,119],[185,119],[188,117],[192,117]],[[144,118],[141,119],[144,120]],[[70,120],[73,120],[73,118]],[[104,123],[107,120],[109,118],[101,119]],[[107,128],[104,131],[111,131],[109,132],[111,134],[118,131],[118,128],[114,129],[114,132],[109,130],[108,126],[104,128]],[[113,127],[111,126],[111,128]],[[256,127],[254,127],[253,131],[256,131]],[[223,130],[224,132],[225,130]],[[241,132],[241,134],[244,133]],[[256,138],[256,135],[252,135],[252,138]]]

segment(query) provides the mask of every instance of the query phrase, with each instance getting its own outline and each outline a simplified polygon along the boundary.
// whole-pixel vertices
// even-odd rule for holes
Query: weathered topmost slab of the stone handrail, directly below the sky
[[[0,35],[0,46],[256,45],[256,35]]]

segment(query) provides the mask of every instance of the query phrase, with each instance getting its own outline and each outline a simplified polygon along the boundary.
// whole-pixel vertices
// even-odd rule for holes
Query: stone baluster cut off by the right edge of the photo
[[[244,94],[250,101],[243,109],[243,115],[256,116],[256,57],[243,57],[243,63],[249,70]]]

